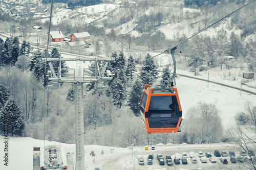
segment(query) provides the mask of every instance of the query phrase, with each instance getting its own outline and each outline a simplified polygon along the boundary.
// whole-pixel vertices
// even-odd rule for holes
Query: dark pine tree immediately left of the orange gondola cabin
[[[129,100],[127,102],[128,106],[131,108],[131,110],[136,116],[140,115],[139,103],[141,100],[142,92],[143,92],[143,84],[141,83],[140,80],[137,79],[133,85],[133,88],[130,92]]]

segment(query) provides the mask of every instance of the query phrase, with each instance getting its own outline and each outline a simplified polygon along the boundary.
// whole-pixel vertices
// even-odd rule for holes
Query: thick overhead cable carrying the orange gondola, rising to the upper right
[[[158,54],[158,55],[152,56],[152,57],[150,57],[150,58],[148,58],[148,59],[146,59],[146,60],[140,61],[140,62],[138,62],[138,63],[136,63],[136,64],[140,64],[140,63],[142,63],[142,62],[144,62],[144,61],[150,60],[150,59],[152,59],[152,58],[155,58],[155,57],[157,57],[157,56],[160,56],[161,54],[164,54],[164,53],[166,53],[166,52],[168,52],[168,51],[171,51],[171,50],[173,50],[174,48],[177,48],[177,46],[180,45],[181,43],[183,43],[183,42],[189,40],[189,39],[192,38],[192,37],[195,37],[195,36],[198,35],[199,33],[203,32],[204,30],[208,29],[209,27],[215,25],[216,23],[220,22],[221,20],[225,19],[226,17],[232,15],[233,13],[239,11],[240,9],[242,9],[242,8],[244,8],[245,6],[249,5],[249,4],[252,3],[253,1],[255,1],[255,0],[250,1],[249,3],[247,3],[247,4],[243,5],[242,7],[238,8],[237,10],[234,10],[233,12],[227,14],[226,16],[224,16],[224,17],[222,17],[221,19],[217,20],[216,22],[212,23],[212,24],[209,25],[208,27],[205,27],[204,29],[200,30],[199,32],[197,32],[197,33],[191,35],[191,36],[188,37],[187,39],[185,39],[185,40],[181,41],[180,43],[176,44],[176,45],[173,46],[172,48],[168,48],[168,49],[165,50],[164,52],[162,52],[162,53],[160,53],[160,54]],[[129,66],[129,67],[120,69],[120,70],[117,72],[117,74],[119,74],[121,71],[123,71],[123,70],[125,70],[125,69],[127,69],[127,68],[133,67],[133,66],[136,65],[136,64],[133,64],[133,65],[131,65],[131,66]]]

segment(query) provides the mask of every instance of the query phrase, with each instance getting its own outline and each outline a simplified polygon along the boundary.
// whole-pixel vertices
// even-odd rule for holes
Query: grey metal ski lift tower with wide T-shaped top
[[[96,88],[104,88],[104,84],[112,80],[112,74],[107,66],[114,58],[43,58],[49,61],[48,88],[58,88],[59,83],[73,83],[75,85],[75,139],[76,139],[76,166],[75,170],[84,170],[84,129],[83,129],[83,83],[95,82]],[[59,61],[59,67],[53,68],[51,61]],[[75,61],[76,68],[61,69],[61,61]],[[95,69],[82,69],[81,61],[95,61]],[[105,61],[99,66],[99,61]],[[65,73],[64,73],[65,72]]]

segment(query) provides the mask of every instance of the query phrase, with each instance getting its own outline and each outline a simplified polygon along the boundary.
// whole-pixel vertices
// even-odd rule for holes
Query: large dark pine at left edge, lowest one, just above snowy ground
[[[5,116],[8,116],[8,134],[11,134],[11,136],[22,136],[23,130],[25,128],[24,116],[19,106],[12,98],[9,98],[5,106],[0,111],[1,130],[5,128]]]

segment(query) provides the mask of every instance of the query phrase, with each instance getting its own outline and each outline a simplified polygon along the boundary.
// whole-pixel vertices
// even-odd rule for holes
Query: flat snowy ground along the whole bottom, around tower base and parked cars
[[[1,141],[3,141],[3,136],[0,136]],[[26,144],[24,144],[26,143]],[[66,144],[59,143],[54,141],[45,141],[37,140],[30,137],[20,138],[20,137],[9,137],[9,166],[4,166],[3,163],[0,164],[0,169],[3,170],[13,170],[13,169],[22,169],[28,170],[31,169],[31,164],[33,164],[33,148],[40,147],[44,148],[44,145],[58,145],[59,147],[64,147],[67,153],[71,153],[71,157],[68,156],[69,169],[72,169],[72,164],[75,160],[75,144]],[[3,148],[3,142],[0,143],[0,147]],[[94,170],[95,167],[100,167],[102,170],[114,170],[114,169],[148,169],[148,167],[157,168],[166,168],[170,169],[170,166],[159,165],[157,161],[157,154],[161,154],[164,158],[166,155],[172,156],[172,159],[175,159],[175,153],[182,154],[186,152],[187,154],[191,151],[195,152],[197,163],[193,164],[190,161],[190,158],[187,158],[187,165],[173,165],[175,169],[196,169],[200,168],[234,168],[234,167],[245,167],[246,163],[236,163],[236,164],[222,164],[220,158],[217,159],[216,164],[212,164],[209,160],[207,163],[202,163],[198,157],[198,151],[202,151],[204,154],[206,152],[213,153],[214,150],[219,150],[229,152],[234,151],[238,156],[239,151],[236,149],[236,145],[232,143],[213,143],[213,144],[180,144],[180,145],[163,145],[157,144],[155,150],[151,150],[151,147],[148,147],[148,150],[145,150],[145,147],[133,147],[133,148],[115,148],[115,147],[104,147],[99,145],[86,145],[84,147],[84,160],[86,163],[86,169]],[[91,151],[94,151],[95,157],[90,156]],[[103,151],[103,154],[101,152]],[[2,153],[2,151],[1,151]],[[147,156],[149,154],[154,155],[153,165],[147,165]],[[145,161],[144,165],[139,165],[138,156],[142,155]],[[213,155],[213,154],[212,154]],[[93,163],[95,159],[95,163]],[[227,157],[230,161],[230,157]],[[35,170],[35,169],[33,169]],[[39,166],[38,166],[39,170]]]

